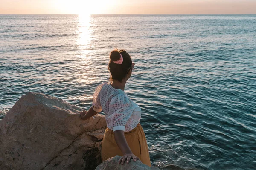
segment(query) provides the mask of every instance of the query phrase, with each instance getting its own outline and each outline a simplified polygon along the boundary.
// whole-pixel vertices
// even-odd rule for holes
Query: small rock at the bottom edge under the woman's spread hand
[[[130,161],[129,164],[118,164],[121,156],[115,156],[103,161],[95,170],[159,170],[157,167],[148,167],[141,161]]]

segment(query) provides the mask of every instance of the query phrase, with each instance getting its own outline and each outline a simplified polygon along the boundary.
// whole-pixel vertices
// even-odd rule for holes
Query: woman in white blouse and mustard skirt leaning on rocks
[[[141,109],[124,92],[133,68],[134,63],[126,51],[112,51],[108,63],[111,82],[96,88],[93,106],[80,115],[86,120],[102,110],[105,112],[108,128],[102,141],[102,161],[120,155],[119,164],[138,159],[151,166],[145,133],[140,125]]]

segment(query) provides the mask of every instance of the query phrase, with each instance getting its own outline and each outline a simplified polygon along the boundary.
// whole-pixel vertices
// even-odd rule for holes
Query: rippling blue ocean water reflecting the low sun
[[[256,170],[256,15],[0,15],[0,119],[27,92],[90,108],[115,47],[152,165]]]

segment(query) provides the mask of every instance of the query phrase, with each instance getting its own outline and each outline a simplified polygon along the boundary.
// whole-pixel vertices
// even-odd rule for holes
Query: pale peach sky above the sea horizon
[[[0,0],[0,14],[256,14],[256,0]]]

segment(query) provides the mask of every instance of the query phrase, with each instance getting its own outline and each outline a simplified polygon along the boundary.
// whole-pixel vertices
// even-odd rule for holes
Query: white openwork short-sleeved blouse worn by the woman
[[[97,86],[93,94],[93,110],[103,110],[107,127],[113,131],[129,132],[140,122],[140,107],[124,91],[113,88],[110,82]]]

